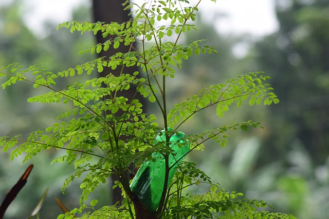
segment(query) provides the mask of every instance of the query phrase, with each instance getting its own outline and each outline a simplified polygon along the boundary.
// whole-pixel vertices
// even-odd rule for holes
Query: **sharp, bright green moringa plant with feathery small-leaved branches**
[[[30,97],[28,102],[69,105],[69,110],[57,117],[59,122],[45,131],[34,131],[27,139],[20,135],[0,138],[4,152],[13,148],[10,159],[24,154],[23,163],[43,150],[55,148],[66,151],[52,163],[74,165],[76,172],[67,177],[63,192],[70,182],[82,178],[80,207],[59,215],[58,219],[295,218],[269,212],[271,206],[264,201],[246,200],[241,198],[242,193],[226,191],[199,170],[195,162],[182,161],[191,151],[202,153],[203,144],[208,140],[225,147],[230,129],[247,131],[249,127],[261,127],[258,122],[247,121],[196,134],[179,132],[182,125],[199,111],[215,106],[214,113],[221,118],[232,104],[240,106],[242,102],[249,101],[250,105],[270,105],[279,102],[270,85],[266,84],[269,77],[263,72],[252,72],[203,88],[169,109],[170,99],[166,97],[168,80],[179,73],[181,63],[192,55],[216,53],[214,48],[204,45],[204,39],[187,45],[179,44],[182,33],[197,30],[193,21],[200,2],[193,3],[195,5],[186,0],[125,2],[126,10],[134,14],[134,20],[129,22],[75,21],[58,26],[69,28],[71,32],[80,31],[81,34],[100,31],[103,37],[115,36],[81,53],[100,53],[110,47],[117,49],[120,45],[130,47],[127,53],[117,52],[111,57],[96,58],[58,73],[39,65],[24,67],[19,63],[1,68],[1,76],[7,77],[2,84],[3,89],[16,82],[28,82],[34,88],[49,90]],[[133,46],[136,41],[139,49]],[[130,72],[127,70],[130,66],[138,66],[140,70]],[[112,70],[119,68],[121,74],[115,76],[108,71],[106,76],[99,77],[97,72],[103,72],[105,67]],[[92,75],[92,78],[83,81],[81,76],[84,74]],[[61,77],[75,77],[76,82],[67,85],[66,89],[58,89],[57,82]],[[148,99],[160,111],[160,116],[145,113],[139,99],[120,95],[120,91],[128,89]],[[66,117],[70,118],[67,122],[63,120]],[[163,124],[162,127],[159,124]],[[151,174],[152,168],[153,173],[155,171],[155,164],[161,164],[159,169],[162,171]],[[138,178],[131,185],[139,167]],[[162,175],[153,177],[159,176],[157,174]],[[88,195],[100,183],[105,183],[110,175],[119,178],[113,187],[122,190],[122,201],[99,207],[96,207],[97,200],[86,203]],[[145,186],[144,182],[151,186]],[[153,189],[154,183],[160,190]],[[210,185],[210,191],[202,195],[188,193],[189,187],[203,185]],[[143,193],[142,189],[148,189],[148,196],[137,195]],[[152,192],[157,192],[157,201],[153,200]],[[152,205],[142,202],[142,198]]]

